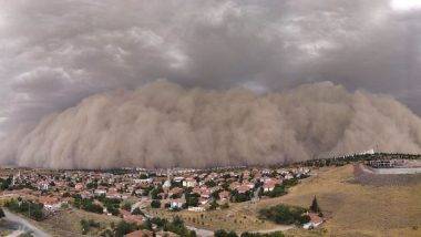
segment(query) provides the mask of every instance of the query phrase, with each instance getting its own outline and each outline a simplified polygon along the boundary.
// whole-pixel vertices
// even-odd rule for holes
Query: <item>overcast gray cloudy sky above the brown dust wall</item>
[[[0,131],[160,78],[332,81],[421,114],[421,0],[0,0]]]

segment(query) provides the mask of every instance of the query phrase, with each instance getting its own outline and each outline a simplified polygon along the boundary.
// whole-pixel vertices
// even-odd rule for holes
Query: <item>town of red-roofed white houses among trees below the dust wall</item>
[[[203,212],[212,205],[233,202],[233,195],[258,199],[285,181],[302,178],[310,169],[227,168],[227,169],[121,169],[93,171],[9,169],[2,181],[10,186],[2,198],[24,197],[42,203],[54,213],[81,198],[127,200],[135,208],[168,208]],[[247,199],[248,200],[248,199]],[[154,204],[153,204],[154,203]],[[106,209],[104,209],[105,214]],[[126,216],[129,213],[121,212]],[[109,214],[110,215],[110,214]]]

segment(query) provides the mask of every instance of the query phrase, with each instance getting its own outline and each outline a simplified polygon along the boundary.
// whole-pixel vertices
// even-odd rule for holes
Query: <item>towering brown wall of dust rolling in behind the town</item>
[[[1,163],[54,168],[275,164],[378,146],[421,151],[421,120],[330,82],[257,95],[167,81],[83,100],[0,143]]]

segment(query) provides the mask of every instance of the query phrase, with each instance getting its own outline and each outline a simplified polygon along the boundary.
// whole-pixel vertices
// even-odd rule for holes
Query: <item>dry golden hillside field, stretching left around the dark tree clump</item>
[[[316,195],[328,220],[316,230],[289,229],[290,236],[421,236],[421,181],[399,185],[357,183],[353,166],[329,167],[305,179],[286,196],[263,199],[257,204],[232,204],[228,210],[170,213],[179,215],[195,227],[207,229],[263,230],[285,229],[257,218],[260,208],[286,203],[308,207]]]

